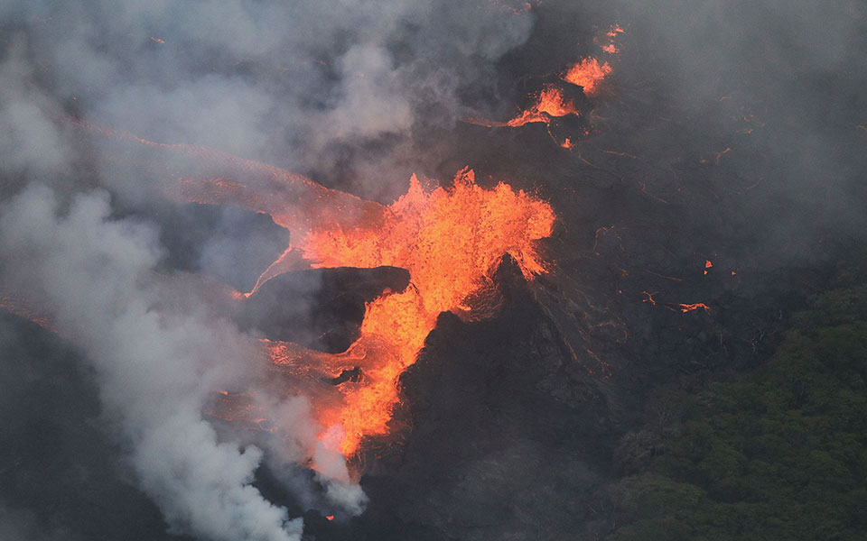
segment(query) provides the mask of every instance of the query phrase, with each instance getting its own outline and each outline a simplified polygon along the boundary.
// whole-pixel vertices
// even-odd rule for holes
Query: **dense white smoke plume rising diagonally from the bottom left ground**
[[[3,206],[4,287],[42,307],[87,353],[144,490],[172,525],[200,536],[297,538],[300,521],[250,485],[261,451],[219,442],[201,417],[209,393],[255,373],[253,340],[205,316],[192,298],[187,313],[155,311],[154,229],[110,219],[106,193],[59,205],[36,187]]]

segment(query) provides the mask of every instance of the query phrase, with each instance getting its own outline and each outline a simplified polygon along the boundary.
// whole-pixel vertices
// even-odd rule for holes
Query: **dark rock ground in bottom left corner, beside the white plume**
[[[50,332],[0,312],[0,538],[192,541],[167,533],[107,436],[93,374]]]

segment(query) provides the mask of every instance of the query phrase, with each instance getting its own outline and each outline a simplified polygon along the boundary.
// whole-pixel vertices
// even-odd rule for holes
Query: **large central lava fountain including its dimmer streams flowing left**
[[[506,254],[527,280],[545,272],[536,241],[551,234],[551,206],[506,184],[481,188],[471,170],[462,170],[452,188],[425,190],[414,176],[406,195],[389,206],[325,188],[310,205],[286,201],[279,206],[280,191],[270,197],[225,179],[182,181],[187,200],[240,203],[272,215],[300,237],[260,277],[256,289],[303,265],[394,266],[410,273],[406,290],[387,291],[368,303],[359,338],[344,353],[263,341],[275,368],[296,381],[355,374],[340,385],[321,382],[297,389],[311,399],[322,445],[347,457],[357,453],[364,437],[388,433],[400,399],[398,377],[415,362],[441,312],[483,316],[473,313],[473,298],[489,288]]]

